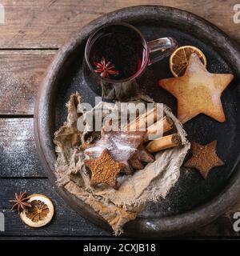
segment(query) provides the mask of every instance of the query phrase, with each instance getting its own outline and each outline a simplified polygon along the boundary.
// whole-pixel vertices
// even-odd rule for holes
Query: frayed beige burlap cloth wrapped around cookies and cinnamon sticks
[[[163,150],[155,155],[155,161],[146,165],[143,170],[134,172],[132,176],[122,182],[118,190],[113,188],[97,188],[90,186],[90,176],[83,164],[86,158],[79,149],[85,139],[85,131],[77,129],[77,122],[81,113],[78,113],[78,104],[81,101],[79,94],[72,94],[66,104],[68,116],[63,126],[54,134],[54,143],[58,154],[55,164],[55,174],[58,185],[63,186],[71,194],[90,205],[98,214],[105,218],[114,230],[114,234],[123,232],[122,226],[134,220],[143,210],[146,202],[156,202],[158,198],[165,198],[170,188],[178,181],[180,166],[190,149],[186,140],[186,132],[174,114],[166,106],[164,112],[173,121],[178,134],[182,138],[182,146]],[[110,103],[100,102],[97,107]],[[86,114],[86,113],[85,113]]]

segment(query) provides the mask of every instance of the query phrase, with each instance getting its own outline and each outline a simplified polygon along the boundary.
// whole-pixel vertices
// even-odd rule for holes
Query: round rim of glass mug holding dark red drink
[[[144,56],[144,62],[142,64],[141,68],[136,73],[134,73],[132,76],[130,76],[129,78],[125,78],[125,79],[122,79],[122,80],[115,80],[115,79],[109,79],[109,78],[102,78],[102,77],[100,77],[100,75],[96,74],[96,72],[94,71],[94,68],[91,65],[90,60],[88,58],[88,56],[90,54],[91,46],[92,46],[90,43],[92,42],[92,39],[94,38],[94,36],[96,34],[98,34],[98,32],[100,30],[102,30],[103,28],[106,28],[108,26],[116,26],[116,25],[117,26],[127,26],[131,30],[134,30],[134,32],[136,32],[139,35],[139,37],[142,39],[142,45],[143,45],[144,49],[146,49],[146,56]],[[101,78],[102,80],[104,80],[106,82],[121,83],[121,82],[131,81],[134,78],[137,78],[138,75],[141,74],[146,69],[146,66],[148,66],[148,63],[149,63],[149,53],[150,53],[150,50],[149,50],[149,47],[147,45],[146,39],[144,38],[143,34],[137,28],[135,28],[134,26],[132,26],[132,25],[126,23],[126,22],[113,22],[113,23],[107,23],[107,24],[105,24],[103,26],[100,26],[98,28],[98,30],[94,31],[94,33],[90,35],[90,37],[87,39],[87,42],[86,42],[84,58],[85,58],[86,64],[89,67],[89,69],[92,72],[94,72],[94,74],[98,75],[99,78]]]

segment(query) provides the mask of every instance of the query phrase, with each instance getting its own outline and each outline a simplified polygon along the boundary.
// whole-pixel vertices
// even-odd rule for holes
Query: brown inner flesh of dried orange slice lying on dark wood
[[[31,209],[26,212],[26,217],[30,218],[32,222],[44,220],[49,213],[49,208],[45,202],[41,200],[34,200],[31,202]]]

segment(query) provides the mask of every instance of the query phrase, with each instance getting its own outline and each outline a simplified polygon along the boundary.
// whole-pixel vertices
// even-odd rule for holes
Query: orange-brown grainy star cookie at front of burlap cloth
[[[116,162],[107,149],[98,158],[87,159],[84,163],[91,171],[91,186],[104,183],[115,188],[117,175],[126,167],[122,162]]]

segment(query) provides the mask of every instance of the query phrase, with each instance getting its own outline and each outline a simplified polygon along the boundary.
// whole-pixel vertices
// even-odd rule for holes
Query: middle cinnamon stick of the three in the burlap
[[[165,116],[161,120],[158,120],[151,126],[146,129],[146,136],[144,138],[144,142],[148,140],[153,140],[154,138],[162,137],[164,133],[169,130],[172,130],[174,126],[174,122],[169,117]]]

